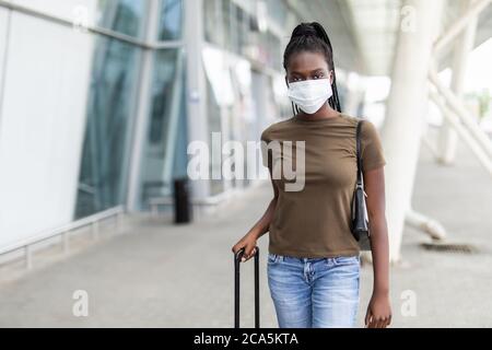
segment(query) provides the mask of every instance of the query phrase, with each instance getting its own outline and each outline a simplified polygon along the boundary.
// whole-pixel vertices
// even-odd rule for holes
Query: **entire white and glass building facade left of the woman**
[[[189,140],[259,140],[290,114],[276,85],[295,21],[280,0],[263,9],[274,16],[255,0],[11,3],[0,5],[0,250],[115,206],[147,210],[186,175]],[[223,58],[225,103],[204,48]],[[202,182],[194,196],[248,185]]]

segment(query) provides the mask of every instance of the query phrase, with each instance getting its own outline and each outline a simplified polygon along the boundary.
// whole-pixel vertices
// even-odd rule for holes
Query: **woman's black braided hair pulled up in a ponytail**
[[[331,108],[341,112],[337,90],[337,78],[335,75],[333,49],[331,47],[328,34],[321,24],[318,22],[301,23],[294,28],[291,35],[291,40],[286,45],[285,51],[283,52],[283,68],[285,71],[288,70],[289,59],[292,54],[300,51],[320,52],[325,55],[328,67],[333,70],[333,82],[331,83],[333,94],[328,100],[328,103]],[[292,109],[294,114],[298,113],[298,107],[293,102]]]

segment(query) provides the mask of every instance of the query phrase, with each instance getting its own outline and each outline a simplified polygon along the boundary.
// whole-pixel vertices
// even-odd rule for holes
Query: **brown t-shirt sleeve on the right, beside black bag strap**
[[[371,171],[386,164],[383,144],[376,127],[364,120],[361,128],[361,155],[364,171]]]

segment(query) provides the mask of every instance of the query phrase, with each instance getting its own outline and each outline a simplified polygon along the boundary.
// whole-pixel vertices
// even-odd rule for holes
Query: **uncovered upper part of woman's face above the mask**
[[[321,52],[300,51],[293,54],[289,59],[285,82],[309,79],[329,79],[332,83],[332,73],[328,68],[328,62]]]

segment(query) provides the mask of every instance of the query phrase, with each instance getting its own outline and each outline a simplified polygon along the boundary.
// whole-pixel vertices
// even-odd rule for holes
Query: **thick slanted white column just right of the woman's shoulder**
[[[427,72],[443,0],[407,0],[401,21],[382,130],[387,165],[386,218],[391,261],[400,258],[406,211],[410,208],[427,106]]]

